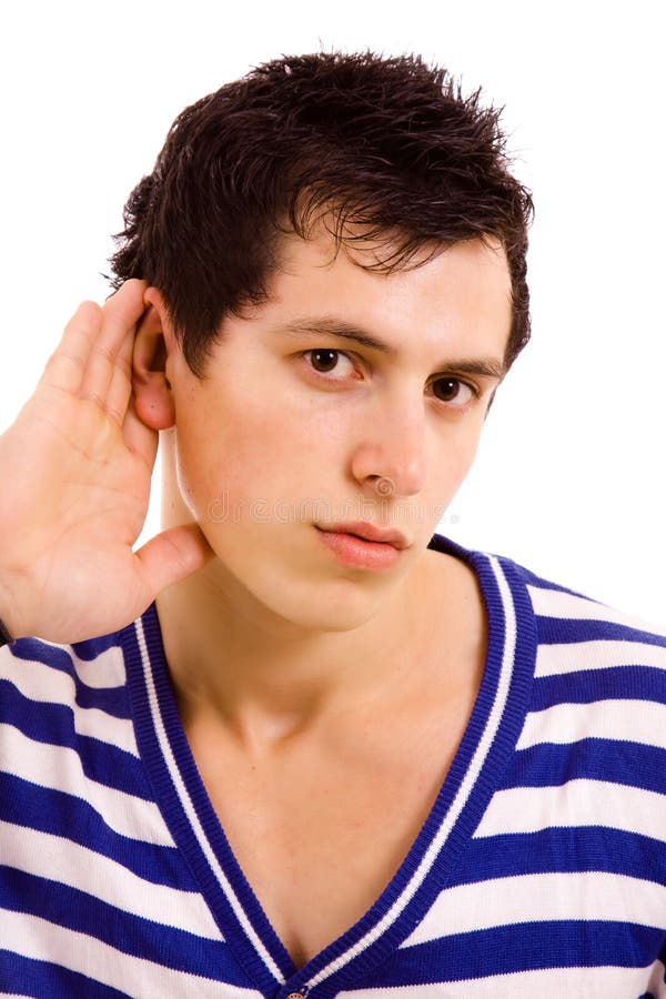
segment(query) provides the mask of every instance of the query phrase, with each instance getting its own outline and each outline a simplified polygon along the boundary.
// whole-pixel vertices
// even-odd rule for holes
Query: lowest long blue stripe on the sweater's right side
[[[663,929],[612,920],[502,926],[404,947],[372,983],[427,985],[548,968],[647,968],[663,941]]]

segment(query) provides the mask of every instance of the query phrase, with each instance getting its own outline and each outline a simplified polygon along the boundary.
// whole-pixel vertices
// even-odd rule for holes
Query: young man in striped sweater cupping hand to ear
[[[0,438],[4,995],[666,996],[666,637],[434,534],[529,213],[417,59],[176,120]]]

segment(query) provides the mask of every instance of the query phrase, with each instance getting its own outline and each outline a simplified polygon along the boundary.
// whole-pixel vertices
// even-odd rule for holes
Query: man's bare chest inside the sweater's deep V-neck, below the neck
[[[407,856],[466,717],[395,751],[221,767],[195,753],[234,856],[296,967],[352,927]]]

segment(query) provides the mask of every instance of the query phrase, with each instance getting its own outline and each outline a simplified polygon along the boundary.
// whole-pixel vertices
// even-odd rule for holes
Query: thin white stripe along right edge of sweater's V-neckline
[[[307,985],[311,988],[319,985],[321,981],[323,981],[325,978],[329,978],[334,972],[339,971],[351,960],[353,960],[359,953],[370,947],[404,911],[405,907],[408,905],[408,902],[416,894],[417,889],[423,884],[434,860],[444,846],[453,826],[457,821],[463,807],[466,805],[467,799],[474,789],[474,786],[478,778],[478,774],[481,773],[481,768],[485,763],[486,756],[504,715],[504,707],[506,704],[506,698],[508,696],[516,644],[516,618],[513,599],[511,596],[511,589],[497,558],[495,558],[495,556],[488,556],[488,561],[491,563],[491,567],[493,568],[497,587],[502,597],[506,622],[506,640],[503,649],[495,702],[490,712],[483,735],[478,741],[478,745],[476,746],[476,750],[461,783],[457,795],[452,801],[442,825],[440,826],[430,847],[425,851],[421,864],[416,868],[402,895],[398,896],[389,911],[373,927],[373,929],[365,934],[365,936],[362,937],[353,947],[350,947],[349,950],[346,950],[335,960],[331,961],[330,965],[326,965],[317,975],[310,979]]]

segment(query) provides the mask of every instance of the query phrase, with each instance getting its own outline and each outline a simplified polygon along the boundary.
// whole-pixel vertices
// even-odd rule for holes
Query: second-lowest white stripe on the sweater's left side
[[[155,885],[69,839],[0,821],[1,862],[39,878],[85,891],[132,916],[222,940],[198,891]]]

